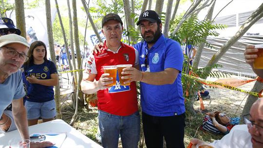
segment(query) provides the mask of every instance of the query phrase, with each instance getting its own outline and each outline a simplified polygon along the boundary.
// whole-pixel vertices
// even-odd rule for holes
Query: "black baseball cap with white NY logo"
[[[162,21],[161,21],[161,18],[159,17],[159,15],[158,15],[155,11],[153,11],[153,10],[146,10],[146,11],[144,11],[144,12],[140,15],[139,21],[137,22],[137,25],[139,25],[139,24],[140,24],[140,21],[141,21],[141,20],[144,20],[144,19],[149,20],[149,21],[152,22],[152,23],[162,22]]]

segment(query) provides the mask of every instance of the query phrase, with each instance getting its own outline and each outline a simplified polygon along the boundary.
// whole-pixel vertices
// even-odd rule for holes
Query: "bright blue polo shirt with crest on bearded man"
[[[150,50],[145,41],[135,44],[134,48],[139,52],[141,71],[162,72],[167,68],[180,71],[173,84],[150,85],[141,82],[142,111],[152,116],[173,116],[184,113],[186,110],[181,83],[184,56],[180,44],[162,35]],[[148,68],[145,66],[146,57]]]

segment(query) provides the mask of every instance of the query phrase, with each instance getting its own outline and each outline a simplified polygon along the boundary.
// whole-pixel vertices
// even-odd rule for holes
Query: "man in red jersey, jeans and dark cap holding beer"
[[[104,148],[117,148],[119,134],[123,148],[137,148],[140,137],[136,83],[122,86],[117,74],[116,84],[107,86],[113,83],[113,78],[103,72],[103,66],[138,66],[138,51],[121,42],[122,25],[121,18],[116,14],[107,14],[102,19],[101,31],[106,37],[104,48],[101,53],[90,54],[81,82],[82,92],[97,92],[99,129]]]

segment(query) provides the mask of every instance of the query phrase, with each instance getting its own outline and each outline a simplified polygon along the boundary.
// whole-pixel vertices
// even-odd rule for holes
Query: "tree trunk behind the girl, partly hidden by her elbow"
[[[21,0],[23,1],[23,0]],[[53,40],[53,31],[52,31],[52,21],[51,21],[51,8],[50,0],[46,0],[46,19],[47,19],[47,32],[48,32],[48,43],[49,43],[49,52],[51,60],[56,65],[56,57],[54,50],[54,40]],[[55,101],[56,101],[56,118],[62,119],[62,114],[60,111],[60,88],[59,84],[55,86]]]

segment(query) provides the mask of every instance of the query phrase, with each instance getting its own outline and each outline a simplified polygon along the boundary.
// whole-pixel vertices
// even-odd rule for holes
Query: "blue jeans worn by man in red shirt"
[[[129,116],[98,112],[99,129],[103,148],[118,148],[119,134],[123,148],[138,148],[140,139],[140,114]]]

